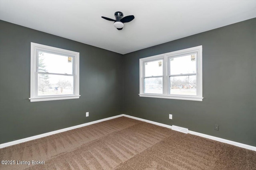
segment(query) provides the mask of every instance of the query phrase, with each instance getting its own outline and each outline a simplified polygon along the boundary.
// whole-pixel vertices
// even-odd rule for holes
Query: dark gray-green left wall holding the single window
[[[5,21],[0,28],[0,143],[122,113],[122,55]],[[28,100],[30,42],[80,52],[79,99]]]

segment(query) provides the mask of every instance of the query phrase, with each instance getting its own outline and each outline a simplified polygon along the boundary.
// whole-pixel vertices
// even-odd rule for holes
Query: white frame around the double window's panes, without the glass
[[[184,55],[189,55],[191,53],[197,53],[196,55],[196,80],[197,80],[196,96],[169,94],[169,89],[170,89],[169,59],[184,56]],[[163,64],[163,94],[147,94],[147,93],[144,93],[144,78],[145,78],[144,63],[154,61],[157,59],[158,60],[163,59],[163,63],[162,63]],[[182,75],[184,74],[181,74],[180,76]],[[202,94],[202,45],[140,59],[140,94],[139,94],[140,97],[202,101],[203,100],[202,95],[203,95]]]

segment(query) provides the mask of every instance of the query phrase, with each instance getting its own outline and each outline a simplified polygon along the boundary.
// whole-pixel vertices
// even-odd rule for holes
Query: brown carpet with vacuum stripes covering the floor
[[[256,170],[255,151],[127,117],[0,149],[0,160],[30,163],[1,170]]]

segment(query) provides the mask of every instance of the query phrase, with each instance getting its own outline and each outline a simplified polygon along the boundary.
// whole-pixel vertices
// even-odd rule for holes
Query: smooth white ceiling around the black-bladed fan
[[[114,12],[135,19],[118,31]],[[0,0],[0,20],[126,54],[256,17],[256,0]]]

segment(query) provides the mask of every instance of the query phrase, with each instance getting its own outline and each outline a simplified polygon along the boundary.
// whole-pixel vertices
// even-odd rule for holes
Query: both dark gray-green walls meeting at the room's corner
[[[5,21],[0,28],[0,143],[125,113],[256,146],[255,18],[126,55]],[[28,100],[30,42],[80,52],[80,99]],[[138,96],[140,58],[198,45],[202,102]]]

